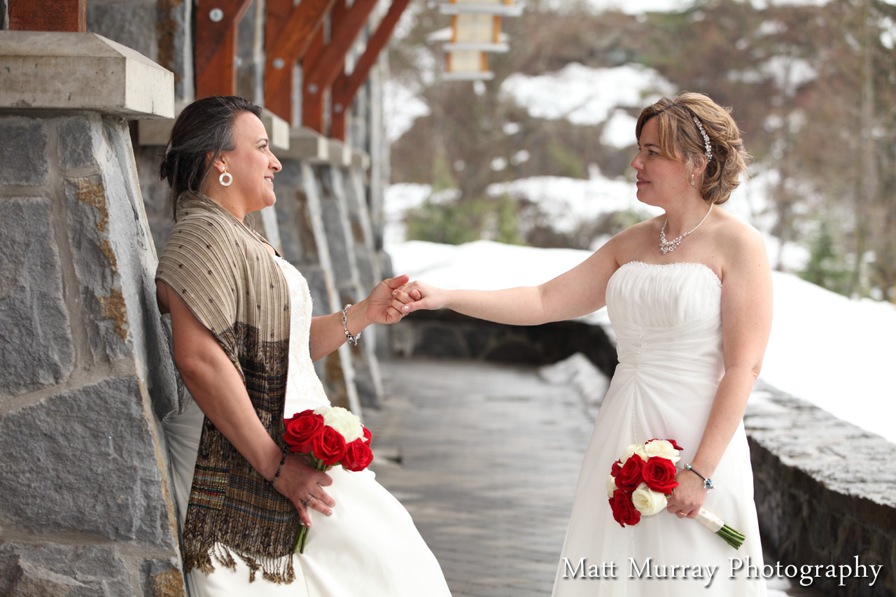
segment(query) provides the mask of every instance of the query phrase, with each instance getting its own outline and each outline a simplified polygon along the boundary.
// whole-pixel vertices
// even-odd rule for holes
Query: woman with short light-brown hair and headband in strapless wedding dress
[[[664,215],[538,287],[440,290],[415,281],[394,294],[406,313],[448,307],[517,325],[607,307],[619,365],[582,463],[556,597],[764,595],[742,419],[771,331],[771,272],[760,234],[713,209],[728,201],[748,156],[728,110],[698,93],[644,108],[635,134],[638,199]],[[678,485],[668,513],[624,528],[607,476],[628,446],[653,438],[684,448]],[[704,504],[745,533],[743,547],[687,520]],[[733,570],[728,558],[746,564]]]

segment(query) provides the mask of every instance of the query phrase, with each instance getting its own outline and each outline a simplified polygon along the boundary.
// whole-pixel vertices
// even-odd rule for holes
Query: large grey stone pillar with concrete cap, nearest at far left
[[[173,78],[92,33],[4,31],[0,72],[0,593],[184,595],[125,120],[173,116]]]

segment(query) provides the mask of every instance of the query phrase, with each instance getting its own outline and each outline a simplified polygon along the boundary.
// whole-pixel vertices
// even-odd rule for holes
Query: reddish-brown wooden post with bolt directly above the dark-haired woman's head
[[[197,0],[196,98],[237,91],[237,23],[252,0]]]

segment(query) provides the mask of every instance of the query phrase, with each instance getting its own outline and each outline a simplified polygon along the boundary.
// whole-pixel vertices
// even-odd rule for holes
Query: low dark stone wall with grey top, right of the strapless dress
[[[896,444],[761,380],[744,423],[776,574],[828,595],[896,595]]]

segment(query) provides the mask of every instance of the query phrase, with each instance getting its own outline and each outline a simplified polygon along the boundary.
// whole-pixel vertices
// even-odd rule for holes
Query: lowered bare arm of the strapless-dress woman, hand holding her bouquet
[[[771,270],[762,239],[751,235],[730,252],[722,284],[722,345],[725,374],[712,402],[700,446],[691,462],[694,471],[711,478],[737,426],[762,368],[771,333]],[[669,500],[669,512],[696,515],[706,491],[693,472],[679,472],[681,485]]]

